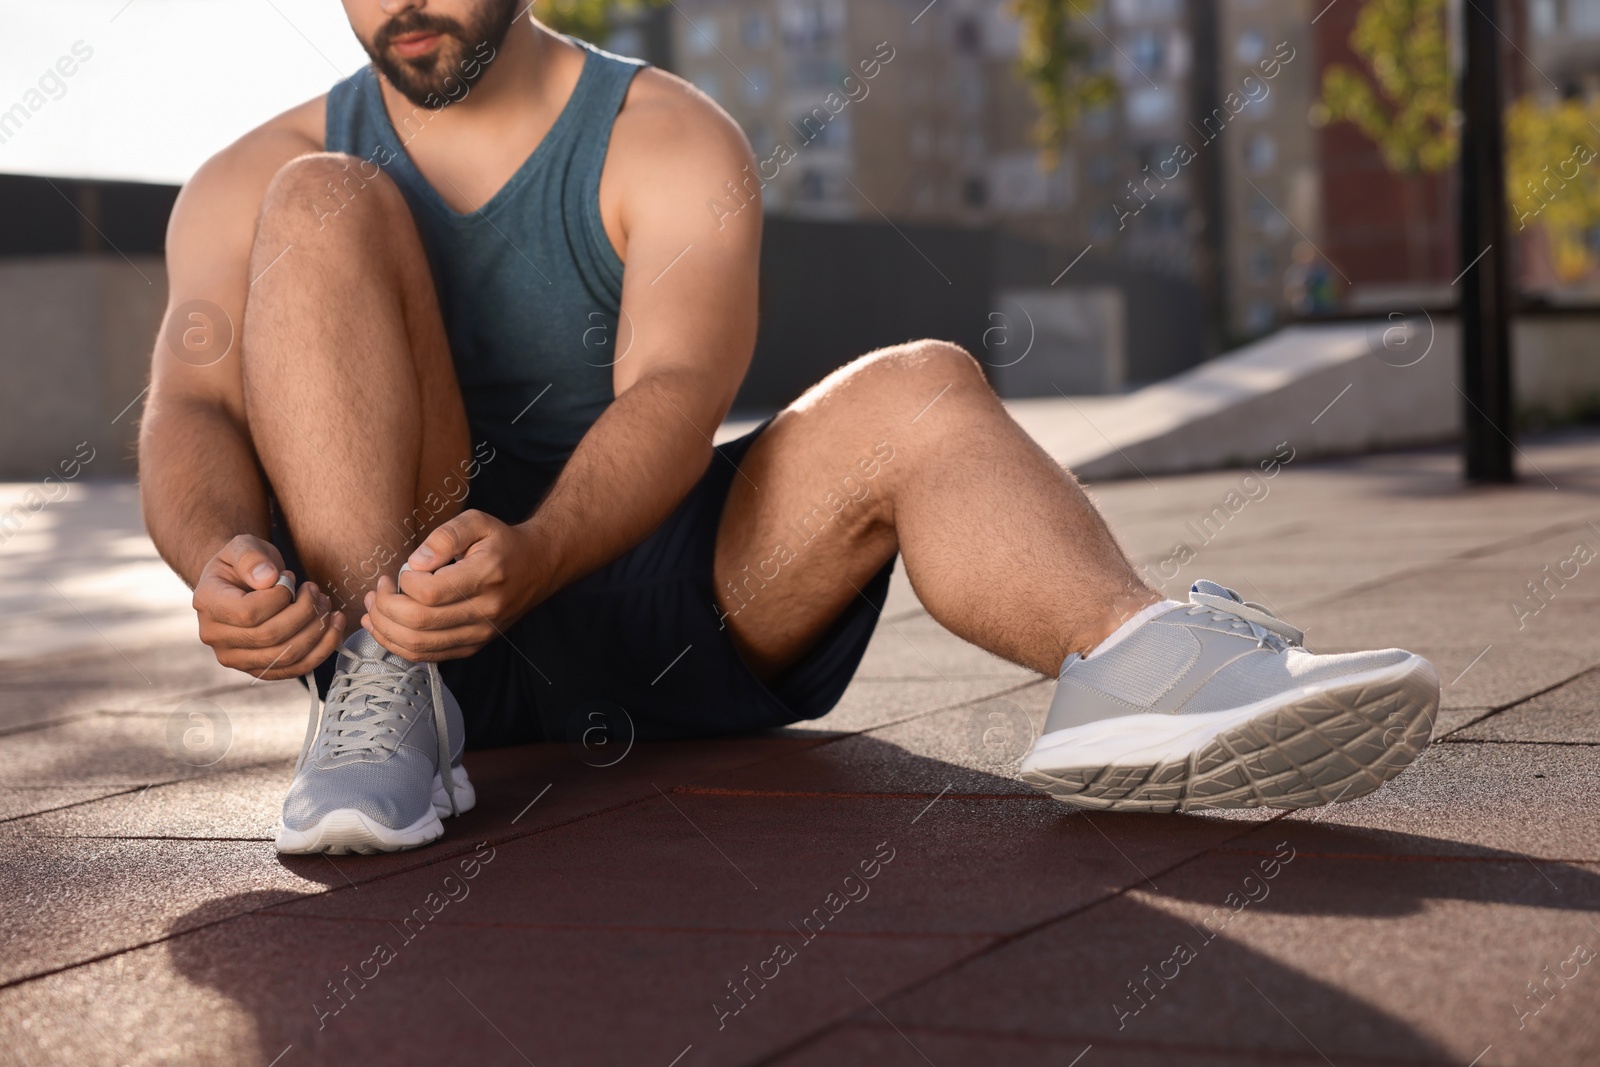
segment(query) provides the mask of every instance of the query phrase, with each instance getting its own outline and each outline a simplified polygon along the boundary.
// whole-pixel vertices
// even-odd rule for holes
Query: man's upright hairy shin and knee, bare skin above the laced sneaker
[[[309,574],[346,616],[466,494],[469,430],[405,198],[336,154],[267,189],[245,306],[245,411]]]

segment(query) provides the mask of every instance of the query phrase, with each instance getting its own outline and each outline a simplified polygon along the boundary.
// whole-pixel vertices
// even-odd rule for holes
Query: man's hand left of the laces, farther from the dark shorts
[[[200,571],[194,609],[200,640],[224,667],[256,678],[298,678],[339,645],[344,613],[312,582],[278,585],[283,557],[261,537],[240,534]]]

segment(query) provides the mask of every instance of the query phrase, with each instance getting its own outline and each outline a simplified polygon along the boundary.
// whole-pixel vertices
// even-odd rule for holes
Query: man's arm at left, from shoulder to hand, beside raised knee
[[[269,125],[184,187],[166,232],[170,296],[139,427],[144,523],[195,590],[200,640],[222,665],[264,678],[309,670],[342,625],[326,619],[331,605],[314,585],[299,595],[277,585],[283,558],[267,542],[238,349],[262,195],[283,163],[312,150],[314,141]]]

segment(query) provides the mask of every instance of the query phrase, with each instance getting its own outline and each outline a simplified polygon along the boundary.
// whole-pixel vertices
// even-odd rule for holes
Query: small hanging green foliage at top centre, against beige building
[[[1098,6],[1090,0],[1011,0],[1011,13],[1022,24],[1018,74],[1038,104],[1034,136],[1051,162],[1085,110],[1117,99],[1117,80],[1090,70],[1093,45],[1086,34],[1094,29],[1088,19]]]

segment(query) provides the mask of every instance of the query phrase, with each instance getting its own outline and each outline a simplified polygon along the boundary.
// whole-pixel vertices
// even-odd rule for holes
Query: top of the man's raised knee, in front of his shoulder
[[[392,222],[406,211],[400,189],[373,160],[314,152],[290,160],[272,176],[261,202],[259,230],[285,238],[336,224],[355,230]]]

